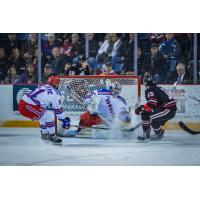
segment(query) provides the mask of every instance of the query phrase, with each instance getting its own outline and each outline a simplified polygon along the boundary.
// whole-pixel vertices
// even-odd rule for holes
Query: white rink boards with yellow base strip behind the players
[[[176,117],[173,120],[170,120],[170,122],[166,124],[165,128],[169,130],[179,129],[177,123],[183,121],[193,129],[200,129],[200,103],[186,97],[189,95],[200,99],[200,86],[180,85],[176,87],[176,90],[173,89],[172,85],[162,85],[162,87],[164,87],[167,92],[177,100],[178,107]],[[186,96],[181,95],[182,93],[186,94]],[[0,86],[0,96],[2,97],[0,101],[0,127],[38,127],[39,124],[37,122],[27,120],[27,118],[22,117],[16,110],[14,110],[14,107],[17,106],[14,105],[14,103],[16,104],[16,102],[19,102],[20,95],[19,93],[13,94],[14,91],[12,85]],[[144,94],[144,87],[142,87],[142,94]],[[145,103],[143,95],[141,103]],[[74,124],[78,123],[78,114],[71,115],[71,113],[67,113],[67,115],[72,117]]]

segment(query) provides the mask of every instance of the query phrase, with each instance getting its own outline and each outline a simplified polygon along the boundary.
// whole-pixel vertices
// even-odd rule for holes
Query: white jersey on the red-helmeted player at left
[[[24,95],[22,100],[32,105],[39,105],[42,108],[55,112],[58,119],[64,119],[60,92],[51,85],[42,85],[34,91]]]

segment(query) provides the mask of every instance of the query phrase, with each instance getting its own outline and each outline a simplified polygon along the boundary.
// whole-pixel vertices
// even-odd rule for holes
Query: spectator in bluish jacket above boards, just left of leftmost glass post
[[[16,83],[37,83],[37,74],[32,60],[27,60],[26,71],[19,76],[19,79]]]

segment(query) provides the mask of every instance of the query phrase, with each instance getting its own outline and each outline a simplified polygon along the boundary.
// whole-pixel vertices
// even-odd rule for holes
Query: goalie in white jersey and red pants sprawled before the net
[[[130,125],[130,110],[127,111],[126,100],[119,95],[121,90],[121,84],[114,82],[108,89],[88,93],[84,99],[87,111],[80,116],[78,130],[73,133],[70,130],[66,131],[65,136],[79,134],[83,128],[92,128],[95,125],[111,128],[114,123],[117,123],[117,126],[122,129]]]

